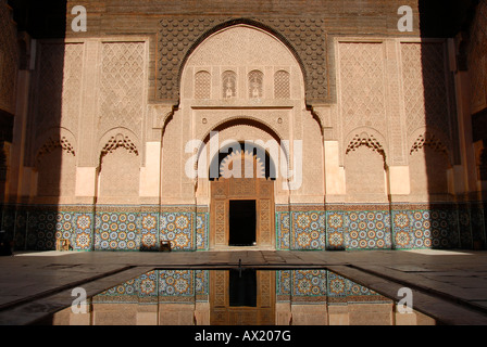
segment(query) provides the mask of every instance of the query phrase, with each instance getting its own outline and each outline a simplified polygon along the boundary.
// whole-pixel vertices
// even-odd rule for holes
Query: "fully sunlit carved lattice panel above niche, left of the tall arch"
[[[145,43],[103,43],[100,132],[124,126],[140,133],[143,115]]]

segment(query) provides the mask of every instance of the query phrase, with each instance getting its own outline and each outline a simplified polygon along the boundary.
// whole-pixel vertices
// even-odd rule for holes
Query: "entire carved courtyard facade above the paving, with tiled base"
[[[415,0],[26,3],[0,1],[15,249],[485,249],[487,1],[446,26]]]

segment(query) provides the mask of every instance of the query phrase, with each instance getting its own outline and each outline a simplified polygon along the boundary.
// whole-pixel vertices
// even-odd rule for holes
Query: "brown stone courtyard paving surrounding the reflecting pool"
[[[444,324],[487,325],[487,252],[232,250],[195,253],[42,252],[0,257],[0,324],[29,324],[154,268],[323,267],[385,296],[413,292],[414,309]]]

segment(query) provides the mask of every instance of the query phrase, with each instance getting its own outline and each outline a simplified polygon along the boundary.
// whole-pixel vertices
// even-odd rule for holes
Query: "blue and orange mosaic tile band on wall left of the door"
[[[16,249],[52,250],[67,239],[74,250],[208,249],[208,208],[187,206],[5,206],[2,228]]]

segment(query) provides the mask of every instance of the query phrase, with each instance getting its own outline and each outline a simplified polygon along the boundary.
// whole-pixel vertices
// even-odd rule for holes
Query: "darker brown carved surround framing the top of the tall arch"
[[[324,20],[312,17],[193,17],[164,18],[158,44],[158,91],[161,100],[177,102],[179,99],[179,72],[185,57],[204,35],[223,28],[224,24],[255,24],[269,28],[294,51],[305,74],[307,99],[309,103],[325,102],[328,99],[326,37]],[[220,52],[218,52],[220,53]]]

